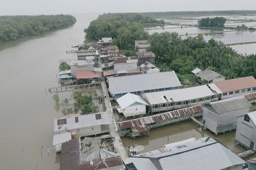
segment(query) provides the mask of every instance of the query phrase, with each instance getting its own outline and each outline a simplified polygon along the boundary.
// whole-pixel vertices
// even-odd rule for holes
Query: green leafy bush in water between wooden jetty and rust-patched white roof
[[[75,113],[78,111],[82,111],[82,115],[88,113],[95,113],[98,111],[97,106],[92,103],[92,96],[82,94],[82,93],[75,93],[74,94],[75,103],[74,103],[74,110]]]

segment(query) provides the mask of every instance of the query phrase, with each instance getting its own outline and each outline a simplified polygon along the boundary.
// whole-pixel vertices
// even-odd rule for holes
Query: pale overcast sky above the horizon
[[[0,0],[0,15],[256,10],[256,0]]]

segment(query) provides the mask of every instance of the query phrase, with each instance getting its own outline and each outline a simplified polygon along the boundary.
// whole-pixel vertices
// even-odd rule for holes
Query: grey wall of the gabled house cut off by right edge
[[[244,120],[245,116],[242,115],[238,118],[238,128],[235,132],[235,142],[240,143],[246,148],[250,148],[250,142],[256,145],[256,127],[252,120],[248,123]],[[256,151],[256,146],[253,148]]]

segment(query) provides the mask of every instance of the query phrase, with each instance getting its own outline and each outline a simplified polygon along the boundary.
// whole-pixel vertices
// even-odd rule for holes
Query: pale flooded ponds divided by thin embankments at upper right
[[[200,18],[206,18],[208,16],[195,17],[195,18],[171,18],[164,19],[166,22],[176,23],[179,26],[165,26],[164,29],[161,26],[150,27],[147,29],[149,34],[153,33],[163,33],[167,32],[175,32],[179,35],[183,35],[182,38],[186,38],[186,34],[189,36],[196,36],[196,34],[206,34],[203,35],[205,40],[210,40],[214,38],[215,40],[222,41],[223,43],[235,43],[235,42],[250,42],[256,40],[256,31],[244,31],[238,32],[236,30],[211,30],[211,29],[202,29],[196,27],[186,27],[183,26],[181,28],[181,24],[197,24]],[[215,17],[215,16],[210,16]],[[256,28],[256,16],[223,16],[228,18],[225,26],[228,27],[236,27],[245,24],[247,27]],[[246,20],[246,21],[243,21]],[[213,34],[218,33],[218,34]],[[247,45],[234,45],[232,46],[234,50],[242,55],[250,55],[256,54],[256,43],[255,44],[247,44]]]

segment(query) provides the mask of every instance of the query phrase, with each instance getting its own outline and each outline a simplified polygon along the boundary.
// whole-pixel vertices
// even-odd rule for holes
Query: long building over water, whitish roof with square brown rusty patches
[[[54,120],[54,133],[76,132],[79,137],[110,132],[107,112],[70,116]]]

